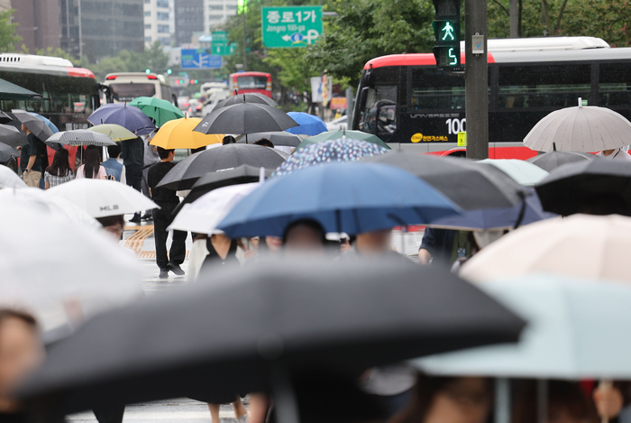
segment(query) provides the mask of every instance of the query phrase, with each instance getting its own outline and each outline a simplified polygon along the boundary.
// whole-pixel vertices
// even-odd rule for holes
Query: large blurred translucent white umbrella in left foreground
[[[102,230],[19,201],[0,207],[0,308],[25,308],[48,341],[96,313],[142,297],[142,268]]]

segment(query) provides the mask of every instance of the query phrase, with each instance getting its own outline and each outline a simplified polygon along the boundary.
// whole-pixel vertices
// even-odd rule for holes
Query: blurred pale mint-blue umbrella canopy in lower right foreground
[[[535,275],[479,285],[526,319],[518,344],[426,357],[425,372],[539,379],[629,379],[631,287]]]

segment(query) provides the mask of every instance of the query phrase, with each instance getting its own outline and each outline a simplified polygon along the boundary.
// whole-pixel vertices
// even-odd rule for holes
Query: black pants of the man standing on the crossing
[[[160,269],[166,269],[169,264],[167,256],[167,227],[173,222],[173,210],[178,203],[157,203],[160,209],[153,209],[153,235],[156,241],[156,264]],[[173,231],[173,242],[169,250],[170,262],[182,264],[187,254],[187,232]]]

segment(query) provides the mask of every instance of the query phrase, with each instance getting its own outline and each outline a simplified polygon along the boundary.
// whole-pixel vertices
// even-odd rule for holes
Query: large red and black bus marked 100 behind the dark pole
[[[535,155],[526,134],[579,97],[631,119],[631,48],[590,37],[490,40],[488,58],[490,158]],[[464,78],[437,69],[433,54],[384,56],[363,69],[351,126],[396,150],[464,155],[464,106]]]

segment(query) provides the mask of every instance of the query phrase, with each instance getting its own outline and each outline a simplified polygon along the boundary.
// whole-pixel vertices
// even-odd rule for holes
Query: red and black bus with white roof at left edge
[[[44,100],[2,100],[6,112],[23,109],[50,119],[60,131],[85,129],[87,116],[100,106],[99,84],[88,69],[70,60],[32,54],[0,54],[0,78],[30,89]]]

